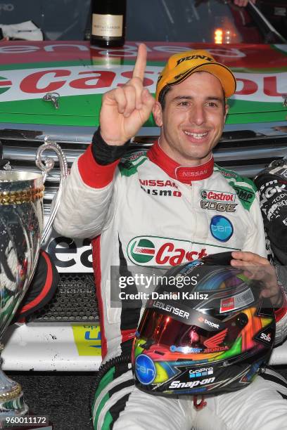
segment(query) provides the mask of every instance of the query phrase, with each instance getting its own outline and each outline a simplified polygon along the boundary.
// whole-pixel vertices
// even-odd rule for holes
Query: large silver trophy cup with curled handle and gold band
[[[32,280],[39,249],[56,215],[68,165],[55,142],[41,145],[36,164],[40,173],[0,171],[0,341]],[[44,158],[44,150],[53,150],[60,164],[60,187],[56,203],[43,233],[44,182],[53,169],[53,159]],[[4,345],[0,344],[0,354]],[[27,413],[20,384],[8,378],[0,368],[0,428],[6,417]]]

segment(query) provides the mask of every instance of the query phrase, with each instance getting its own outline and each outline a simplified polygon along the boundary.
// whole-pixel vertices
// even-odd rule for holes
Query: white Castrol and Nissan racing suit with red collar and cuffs
[[[129,355],[141,311],[111,304],[120,274],[174,266],[202,256],[241,249],[266,256],[255,185],[217,167],[213,158],[180,167],[158,143],[119,162],[99,165],[91,146],[72,166],[54,226],[68,237],[91,237],[104,365],[93,405],[94,428],[260,429],[287,428],[287,382],[272,370],[245,389],[208,398],[203,410],[191,396],[151,396],[136,389]],[[113,291],[111,292],[111,287]],[[129,291],[135,292],[134,285]],[[115,294],[115,296],[114,296]],[[286,327],[279,312],[277,341]],[[106,366],[106,367],[105,367]]]

